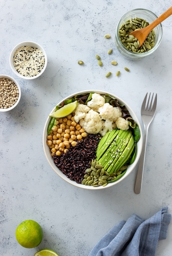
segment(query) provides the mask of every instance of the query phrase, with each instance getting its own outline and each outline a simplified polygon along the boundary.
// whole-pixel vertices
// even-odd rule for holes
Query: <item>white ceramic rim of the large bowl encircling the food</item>
[[[107,184],[107,186],[96,186],[96,187],[93,187],[93,186],[85,186],[83,184],[78,184],[76,183],[75,181],[73,180],[70,180],[65,174],[62,173],[62,171],[60,171],[58,169],[58,167],[54,164],[54,160],[53,160],[53,157],[51,156],[51,151],[50,151],[50,148],[49,146],[47,146],[47,128],[49,126],[49,122],[51,120],[51,117],[48,117],[47,118],[47,121],[45,122],[45,126],[44,126],[44,130],[43,130],[43,137],[42,137],[42,140],[43,140],[43,149],[44,149],[44,153],[45,153],[45,156],[47,158],[47,161],[49,163],[49,165],[51,166],[51,168],[63,179],[65,180],[66,182],[68,182],[69,184],[73,185],[73,186],[76,186],[78,188],[82,188],[82,189],[90,189],[90,190],[97,190],[97,189],[105,189],[105,188],[109,188],[110,186],[114,186],[115,184],[118,184],[119,182],[123,181],[132,171],[133,169],[135,168],[138,160],[139,160],[139,157],[141,155],[141,148],[142,148],[142,143],[143,143],[143,136],[142,136],[142,130],[141,130],[141,125],[138,121],[138,118],[136,117],[136,114],[134,113],[134,111],[130,108],[130,106],[124,102],[122,99],[120,99],[119,97],[117,97],[116,95],[112,94],[112,93],[109,93],[109,92],[104,92],[104,91],[97,91],[97,90],[85,90],[85,91],[81,91],[81,92],[76,92],[74,94],[71,94],[69,95],[68,97],[66,97],[65,99],[71,99],[72,97],[74,97],[74,95],[78,95],[78,94],[84,94],[84,93],[89,93],[89,92],[96,92],[96,93],[99,93],[99,94],[109,94],[111,95],[112,97],[118,99],[118,103],[121,103],[123,105],[126,106],[127,110],[130,112],[130,115],[132,116],[132,118],[134,119],[134,121],[138,124],[139,128],[140,128],[140,131],[141,131],[141,138],[139,139],[138,143],[137,143],[137,153],[136,153],[136,158],[135,158],[135,161],[133,164],[131,164],[130,166],[127,167],[127,171],[126,173],[118,180],[116,180],[116,182],[109,182]],[[60,105],[65,99],[63,99],[62,101],[60,101],[57,105]],[[50,112],[54,112],[56,111],[56,108],[54,107],[54,109]]]

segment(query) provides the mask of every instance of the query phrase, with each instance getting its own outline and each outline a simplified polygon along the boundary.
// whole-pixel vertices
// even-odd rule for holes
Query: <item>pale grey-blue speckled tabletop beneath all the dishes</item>
[[[152,56],[130,61],[114,44],[117,22],[125,12],[145,8],[160,16],[171,5],[170,0],[0,1],[0,74],[13,76],[22,90],[19,105],[0,112],[1,256],[33,256],[45,247],[59,256],[87,256],[112,226],[132,213],[146,219],[163,206],[172,213],[172,16],[162,23],[163,39]],[[25,40],[42,45],[48,56],[45,73],[33,81],[18,78],[9,65],[11,50]],[[95,54],[102,57],[103,67]],[[85,89],[113,92],[129,103],[140,121],[146,92],[157,92],[141,194],[134,193],[136,170],[112,188],[87,191],[66,184],[47,163],[42,131],[49,112],[67,95]],[[44,231],[34,249],[21,247],[15,238],[16,227],[27,219],[39,222]],[[172,223],[156,252],[170,255]]]

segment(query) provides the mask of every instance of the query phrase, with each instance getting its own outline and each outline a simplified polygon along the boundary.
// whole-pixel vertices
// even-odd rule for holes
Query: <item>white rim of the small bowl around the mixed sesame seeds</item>
[[[44,54],[44,57],[45,57],[45,65],[44,65],[43,69],[41,70],[41,72],[40,72],[39,74],[37,74],[36,76],[23,76],[22,74],[20,74],[20,73],[16,70],[16,68],[15,68],[14,65],[13,65],[13,56],[14,56],[16,50],[17,50],[18,48],[22,47],[22,46],[36,47],[36,48],[40,49],[40,51]],[[46,69],[46,67],[47,67],[47,54],[46,54],[44,48],[43,48],[41,45],[39,45],[38,43],[35,43],[35,42],[32,42],[32,41],[22,42],[22,43],[19,43],[18,45],[16,45],[16,46],[13,48],[13,50],[12,50],[12,52],[11,52],[11,54],[10,54],[10,57],[9,57],[9,64],[10,64],[10,67],[11,67],[11,69],[13,70],[13,72],[14,72],[17,76],[19,76],[20,78],[23,78],[23,79],[36,79],[36,78],[38,78],[39,76],[41,76],[41,75],[43,74],[43,72],[45,71],[45,69]]]

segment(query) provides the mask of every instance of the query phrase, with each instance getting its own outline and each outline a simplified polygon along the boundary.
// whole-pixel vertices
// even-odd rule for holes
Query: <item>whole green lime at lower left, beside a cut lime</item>
[[[34,248],[40,244],[43,231],[38,222],[25,220],[16,229],[16,239],[25,248]]]

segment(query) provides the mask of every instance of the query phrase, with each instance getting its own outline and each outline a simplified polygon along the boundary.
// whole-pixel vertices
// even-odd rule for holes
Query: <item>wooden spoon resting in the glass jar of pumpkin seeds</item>
[[[154,20],[150,25],[148,25],[147,27],[144,27],[143,29],[134,30],[130,33],[130,35],[133,35],[134,37],[136,37],[138,39],[138,41],[140,43],[139,47],[141,47],[141,45],[143,44],[143,42],[149,35],[150,31],[152,31],[152,29],[154,29],[154,27],[159,25],[163,20],[168,18],[170,15],[172,15],[172,6],[167,11],[165,11],[163,14],[161,14],[161,16],[159,16],[159,18]]]

